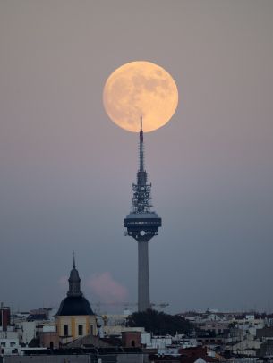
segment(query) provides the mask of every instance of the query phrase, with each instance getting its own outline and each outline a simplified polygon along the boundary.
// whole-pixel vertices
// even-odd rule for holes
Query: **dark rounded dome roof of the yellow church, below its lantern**
[[[67,296],[60,304],[57,316],[94,315],[90,303],[83,296]]]

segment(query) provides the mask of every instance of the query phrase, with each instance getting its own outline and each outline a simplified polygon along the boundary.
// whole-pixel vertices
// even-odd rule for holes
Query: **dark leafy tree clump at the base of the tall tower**
[[[175,333],[192,332],[192,324],[178,315],[169,315],[157,310],[148,309],[135,312],[127,318],[127,326],[143,326],[146,332],[155,335],[175,335]]]

